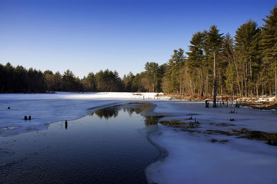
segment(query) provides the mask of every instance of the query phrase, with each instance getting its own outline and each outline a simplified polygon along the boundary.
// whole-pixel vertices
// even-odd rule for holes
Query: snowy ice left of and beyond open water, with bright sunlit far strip
[[[0,136],[46,129],[50,122],[80,118],[87,114],[90,108],[105,104],[120,104],[125,100],[143,100],[143,98],[157,100],[159,98],[157,94],[66,92],[0,94]],[[32,120],[24,120],[24,116],[31,116]]]

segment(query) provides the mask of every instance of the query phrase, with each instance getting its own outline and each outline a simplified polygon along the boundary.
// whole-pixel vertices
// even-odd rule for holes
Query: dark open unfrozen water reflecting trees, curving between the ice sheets
[[[147,183],[159,157],[148,140],[150,105],[102,109],[45,131],[0,138],[0,183]]]

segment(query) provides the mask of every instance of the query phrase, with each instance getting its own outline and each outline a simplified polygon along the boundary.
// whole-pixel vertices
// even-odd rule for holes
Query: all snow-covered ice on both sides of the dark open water
[[[0,94],[0,136],[46,129],[50,122],[80,118],[93,107],[150,101],[156,104],[154,113],[168,115],[161,121],[194,122],[196,118],[200,122],[186,129],[159,125],[150,135],[168,151],[166,158],[146,169],[150,183],[277,183],[277,147],[233,134],[241,129],[277,133],[276,111],[205,108],[204,102],[157,100],[156,95]],[[234,109],[235,113],[230,113]],[[32,120],[23,120],[24,116],[32,116]],[[193,120],[188,120],[191,116]]]

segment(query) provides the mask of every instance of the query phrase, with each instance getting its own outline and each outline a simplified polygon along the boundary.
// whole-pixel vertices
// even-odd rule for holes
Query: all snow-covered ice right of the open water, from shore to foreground
[[[266,140],[238,138],[242,128],[277,133],[272,111],[205,108],[202,102],[158,102],[163,120],[200,122],[181,129],[159,125],[151,140],[168,151],[164,160],[152,163],[146,175],[150,183],[277,183],[277,147]],[[193,120],[188,120],[193,116]],[[230,121],[234,118],[234,121]]]

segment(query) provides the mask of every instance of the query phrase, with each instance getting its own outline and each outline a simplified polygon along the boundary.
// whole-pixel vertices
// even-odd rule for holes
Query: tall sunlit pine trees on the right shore
[[[234,38],[220,33],[215,25],[195,33],[188,57],[184,58],[179,49],[168,62],[170,68],[177,65],[179,69],[168,73],[171,75],[166,76],[165,89],[181,94],[209,95],[218,91],[230,95],[271,95],[277,87],[276,6],[263,21],[263,26],[258,27],[249,19],[236,30]]]

